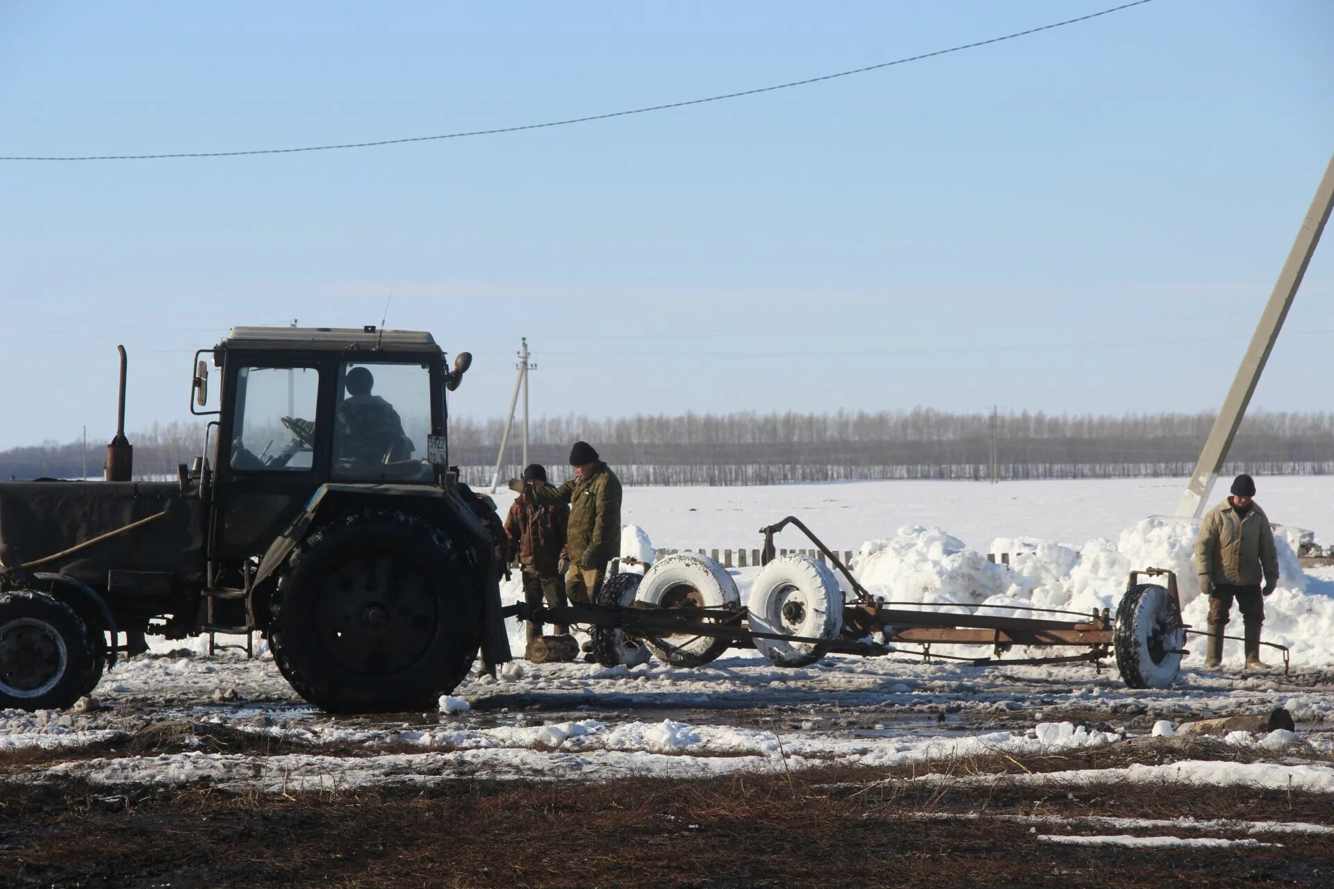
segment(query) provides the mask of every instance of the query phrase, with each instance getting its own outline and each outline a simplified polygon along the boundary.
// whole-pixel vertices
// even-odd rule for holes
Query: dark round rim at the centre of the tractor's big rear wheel
[[[366,676],[388,676],[420,661],[440,620],[426,574],[390,553],[336,565],[324,576],[313,608],[324,653]]]

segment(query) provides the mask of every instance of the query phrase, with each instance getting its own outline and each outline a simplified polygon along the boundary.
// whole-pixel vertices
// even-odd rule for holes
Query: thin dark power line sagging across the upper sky
[[[163,153],[163,155],[84,155],[84,156],[67,156],[67,157],[0,157],[0,161],[19,161],[19,160],[53,160],[53,161],[73,161],[73,160],[163,160],[167,157],[239,157],[241,155],[292,155],[297,152],[311,152],[311,151],[342,151],[346,148],[378,148],[380,145],[402,145],[406,143],[426,143],[438,141],[442,139],[464,139],[468,136],[495,136],[499,133],[516,133],[526,129],[546,129],[550,127],[568,127],[571,124],[587,124],[594,120],[610,120],[611,117],[627,117],[630,115],[646,115],[652,111],[668,111],[671,108],[686,108],[688,105],[703,105],[711,101],[723,101],[726,99],[742,99],[744,96],[756,96],[759,93],[774,92],[776,89],[791,89],[792,87],[806,87],[808,84],[816,84],[826,80],[835,80],[838,77],[850,77],[852,75],[862,75],[868,71],[879,71],[880,68],[891,68],[894,65],[903,65],[910,61],[920,61],[923,59],[932,59],[935,56],[944,56],[951,52],[962,52],[963,49],[975,49],[978,47],[986,47],[994,43],[1003,43],[1006,40],[1015,40],[1017,37],[1026,37],[1029,35],[1039,33],[1042,31],[1051,31],[1054,28],[1063,28],[1066,25],[1078,24],[1081,21],[1089,21],[1090,19],[1098,19],[1099,16],[1111,15],[1113,12],[1121,12],[1122,9],[1130,9],[1131,7],[1142,7],[1151,0],[1135,0],[1134,3],[1126,3],[1119,7],[1111,7],[1110,9],[1103,9],[1101,12],[1091,12],[1086,16],[1079,16],[1078,19],[1066,19],[1065,21],[1055,21],[1049,25],[1041,25],[1038,28],[1029,28],[1027,31],[1017,31],[1015,33],[1007,33],[1000,37],[991,37],[988,40],[978,40],[976,43],[966,43],[958,47],[950,47],[948,49],[936,49],[935,52],[924,52],[918,56],[907,56],[904,59],[895,59],[894,61],[882,61],[876,65],[866,65],[864,68],[852,68],[850,71],[839,71],[832,75],[820,75],[819,77],[807,77],[804,80],[792,80],[788,83],[774,84],[771,87],[758,87],[755,89],[743,89],[740,92],[722,93],[719,96],[707,96],[704,99],[687,99],[684,101],[667,103],[664,105],[647,105],[644,108],[631,108],[628,111],[612,111],[603,115],[588,115],[586,117],[568,117],[566,120],[548,120],[540,124],[522,124],[518,127],[499,127],[495,129],[471,129],[466,132],[456,133],[443,133],[439,136],[412,136],[408,139],[380,139],[368,143],[344,143],[339,145],[305,145],[303,148],[255,148],[249,151],[212,151],[212,152],[176,152],[176,153]]]

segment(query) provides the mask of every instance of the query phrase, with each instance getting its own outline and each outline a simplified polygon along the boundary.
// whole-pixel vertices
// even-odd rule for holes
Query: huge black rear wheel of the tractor
[[[439,528],[354,513],[305,537],[273,596],[269,648],[329,713],[434,709],[478,654],[482,590]]]

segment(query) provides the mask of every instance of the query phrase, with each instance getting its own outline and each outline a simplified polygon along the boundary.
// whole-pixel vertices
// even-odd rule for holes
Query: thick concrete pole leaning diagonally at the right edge
[[[1218,470],[1223,468],[1227,450],[1233,446],[1237,427],[1246,416],[1246,407],[1255,393],[1255,384],[1259,383],[1259,375],[1265,371],[1265,363],[1269,361],[1269,353],[1274,349],[1278,332],[1283,328],[1283,319],[1287,317],[1287,311],[1293,307],[1297,288],[1302,285],[1306,267],[1311,261],[1311,255],[1315,253],[1315,245],[1321,243],[1321,232],[1325,231],[1331,208],[1334,208],[1334,156],[1330,156],[1325,177],[1311,200],[1311,208],[1306,212],[1306,219],[1302,220],[1302,227],[1297,231],[1297,240],[1293,241],[1287,261],[1283,263],[1283,269],[1278,273],[1278,281],[1269,296],[1265,312],[1259,316],[1259,325],[1242,357],[1242,365],[1237,369],[1237,379],[1233,380],[1233,388],[1227,391],[1227,399],[1218,412],[1218,419],[1214,420],[1214,428],[1205,441],[1205,449],[1199,454],[1199,462],[1195,464],[1195,472],[1190,474],[1186,493],[1182,494],[1181,505],[1177,506],[1178,516],[1199,517],[1209,500],[1214,482],[1218,480]]]

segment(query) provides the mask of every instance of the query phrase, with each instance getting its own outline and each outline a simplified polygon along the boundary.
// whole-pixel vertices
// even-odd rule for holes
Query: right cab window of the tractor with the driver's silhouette
[[[424,364],[339,367],[334,472],[344,481],[431,481],[431,372]]]

